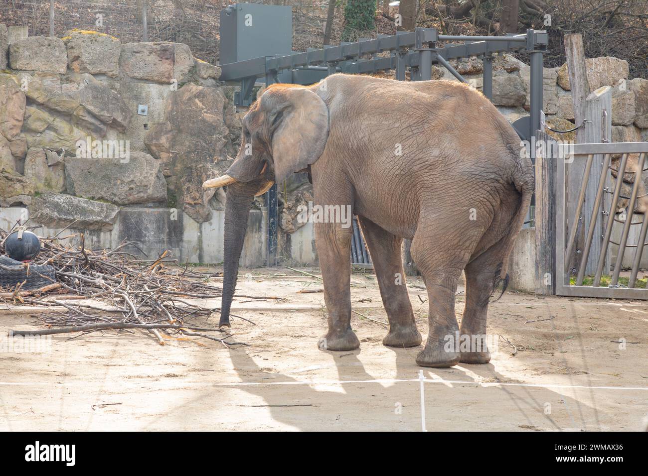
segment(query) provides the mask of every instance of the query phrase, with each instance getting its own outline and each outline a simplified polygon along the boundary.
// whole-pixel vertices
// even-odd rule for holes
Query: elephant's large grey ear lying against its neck
[[[275,91],[285,99],[272,101],[276,104],[273,108],[272,158],[275,181],[279,183],[322,155],[329,137],[329,108],[318,95],[304,87]]]

